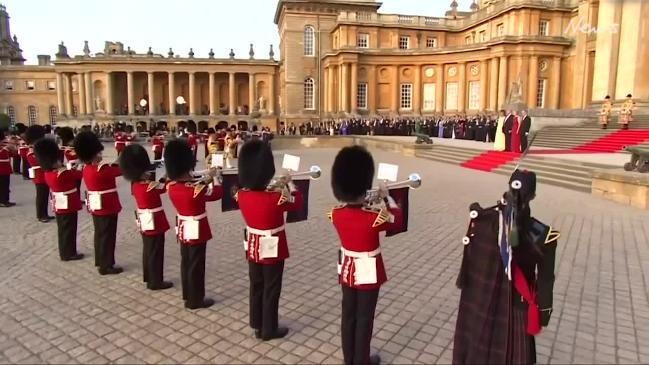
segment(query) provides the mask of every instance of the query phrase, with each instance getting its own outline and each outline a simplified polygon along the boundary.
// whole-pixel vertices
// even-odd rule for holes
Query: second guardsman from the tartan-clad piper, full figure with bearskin
[[[270,147],[250,141],[239,156],[239,184],[236,197],[246,222],[246,258],[250,277],[250,327],[264,341],[285,337],[288,328],[278,326],[279,297],[284,261],[289,257],[284,230],[284,213],[302,206],[302,194],[290,179],[290,195],[268,190],[275,175]]]

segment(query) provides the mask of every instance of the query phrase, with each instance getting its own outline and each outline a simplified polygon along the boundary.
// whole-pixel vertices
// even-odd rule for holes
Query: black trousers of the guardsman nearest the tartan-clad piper
[[[343,288],[343,311],[340,321],[345,364],[367,364],[374,326],[374,312],[379,289]]]

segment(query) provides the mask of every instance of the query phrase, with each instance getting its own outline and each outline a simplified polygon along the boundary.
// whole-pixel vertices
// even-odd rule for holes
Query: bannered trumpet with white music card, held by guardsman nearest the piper
[[[388,170],[386,172],[386,170]],[[382,181],[393,181],[386,183],[379,188],[373,188],[367,191],[365,195],[364,205],[370,209],[387,209],[386,196],[382,192],[387,189],[388,195],[394,200],[397,206],[401,209],[402,220],[401,225],[392,227],[387,230],[386,237],[395,236],[399,233],[408,231],[408,211],[410,208],[410,190],[419,189],[422,184],[421,176],[417,173],[412,173],[408,176],[407,180],[396,181],[398,166],[379,164],[379,179]]]

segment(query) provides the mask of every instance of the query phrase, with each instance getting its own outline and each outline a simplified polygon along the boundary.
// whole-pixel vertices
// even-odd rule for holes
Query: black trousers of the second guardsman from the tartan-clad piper
[[[277,331],[284,261],[272,265],[249,261],[248,274],[250,276],[250,327],[261,330],[262,337],[270,337]]]

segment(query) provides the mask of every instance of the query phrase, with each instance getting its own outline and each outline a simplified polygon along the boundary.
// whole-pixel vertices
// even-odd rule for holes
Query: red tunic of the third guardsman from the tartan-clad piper
[[[203,184],[194,185],[192,183],[183,183],[172,181],[167,184],[167,191],[169,192],[169,199],[176,207],[179,216],[184,217],[199,217],[199,234],[198,239],[185,240],[183,238],[182,224],[177,230],[178,241],[186,245],[195,245],[209,241],[212,238],[212,231],[210,224],[207,220],[207,211],[205,204],[210,201],[217,201],[223,197],[223,189],[219,185],[215,185],[211,194],[208,193],[208,187]],[[180,220],[180,219],[177,219]],[[182,222],[178,222],[182,223]]]

